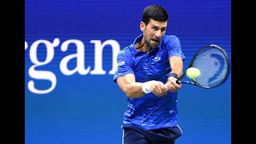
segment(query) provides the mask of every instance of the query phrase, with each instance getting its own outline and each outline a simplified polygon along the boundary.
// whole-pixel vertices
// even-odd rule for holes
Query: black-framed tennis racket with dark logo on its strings
[[[190,67],[200,70],[201,75],[198,78],[192,78],[190,81],[182,81],[186,75],[178,79],[177,83],[186,83],[210,89],[222,85],[226,82],[230,74],[230,62],[226,51],[217,45],[204,46],[192,58]]]

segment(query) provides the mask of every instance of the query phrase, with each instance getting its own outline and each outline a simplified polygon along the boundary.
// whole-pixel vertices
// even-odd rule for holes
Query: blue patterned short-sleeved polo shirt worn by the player
[[[174,35],[165,35],[158,48],[151,49],[149,53],[135,49],[135,44],[142,38],[141,34],[133,44],[119,51],[114,82],[126,74],[134,74],[136,82],[157,80],[166,83],[171,71],[169,58],[179,56],[185,59],[180,41]],[[128,110],[124,113],[123,125],[146,130],[177,126],[177,94],[168,92],[157,97],[150,93],[142,98],[127,98]]]

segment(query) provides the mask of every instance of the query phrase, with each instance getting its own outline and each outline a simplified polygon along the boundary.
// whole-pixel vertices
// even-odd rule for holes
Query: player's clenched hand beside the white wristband
[[[166,90],[166,87],[164,86],[164,83],[159,81],[154,81],[150,86],[150,90],[152,93],[154,93],[158,97],[162,95],[166,95],[168,92]]]

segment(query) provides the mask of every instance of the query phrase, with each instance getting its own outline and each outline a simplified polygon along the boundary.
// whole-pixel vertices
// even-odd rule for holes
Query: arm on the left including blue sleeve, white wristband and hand
[[[141,98],[145,94],[153,93],[156,96],[167,94],[164,83],[159,81],[136,82],[134,75],[134,54],[130,47],[119,51],[117,62],[118,70],[114,74],[114,82],[118,83],[120,89],[128,98]]]

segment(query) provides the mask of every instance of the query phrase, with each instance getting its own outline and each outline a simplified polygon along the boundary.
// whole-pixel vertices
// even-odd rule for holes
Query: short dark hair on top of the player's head
[[[150,19],[158,22],[166,22],[168,20],[168,14],[162,6],[150,5],[146,6],[143,10],[142,22],[146,25],[150,22]]]

